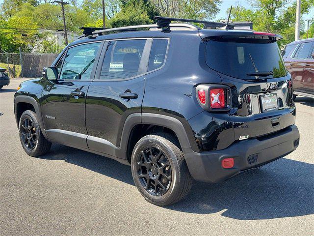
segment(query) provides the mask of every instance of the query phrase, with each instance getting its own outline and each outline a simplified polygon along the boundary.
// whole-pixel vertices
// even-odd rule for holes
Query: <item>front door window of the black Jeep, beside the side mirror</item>
[[[60,80],[89,80],[101,43],[87,43],[69,48],[60,72]]]

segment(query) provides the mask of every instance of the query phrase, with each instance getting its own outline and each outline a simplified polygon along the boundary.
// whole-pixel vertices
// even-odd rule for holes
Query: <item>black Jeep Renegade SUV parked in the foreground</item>
[[[158,23],[86,29],[23,82],[14,112],[26,153],[55,142],[113,158],[165,206],[192,178],[224,181],[297,148],[280,35]]]

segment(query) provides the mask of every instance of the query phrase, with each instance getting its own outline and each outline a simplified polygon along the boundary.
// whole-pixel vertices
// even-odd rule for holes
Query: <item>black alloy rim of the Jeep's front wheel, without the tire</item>
[[[36,146],[36,128],[33,125],[33,120],[26,117],[21,122],[21,138],[23,145],[28,150],[33,150]]]

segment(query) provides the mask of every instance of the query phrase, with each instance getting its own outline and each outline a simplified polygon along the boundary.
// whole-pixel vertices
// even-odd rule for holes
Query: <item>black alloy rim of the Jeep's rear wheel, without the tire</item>
[[[149,146],[142,150],[137,158],[136,170],[140,183],[153,196],[162,196],[169,190],[171,166],[159,148]]]

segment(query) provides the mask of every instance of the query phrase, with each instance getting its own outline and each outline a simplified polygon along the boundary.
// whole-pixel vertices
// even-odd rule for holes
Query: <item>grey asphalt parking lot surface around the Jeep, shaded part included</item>
[[[296,99],[296,151],[221,184],[194,181],[183,201],[157,207],[109,158],[58,144],[26,155],[13,112],[23,80],[0,90],[1,236],[314,234],[313,99]]]

